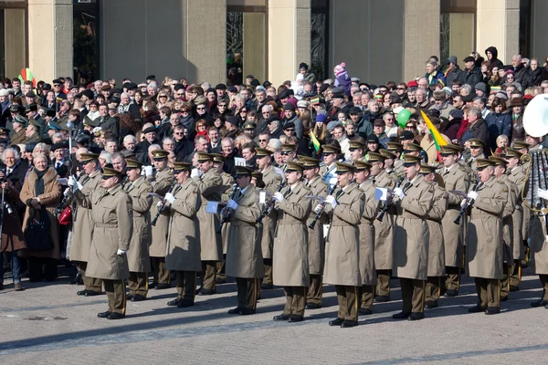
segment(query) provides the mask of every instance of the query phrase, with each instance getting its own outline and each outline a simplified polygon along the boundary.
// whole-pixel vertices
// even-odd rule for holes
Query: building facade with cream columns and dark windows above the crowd
[[[378,84],[425,73],[425,61],[471,50],[548,55],[543,0],[0,0],[0,76],[171,76],[212,84],[253,75],[320,78],[345,62]]]

